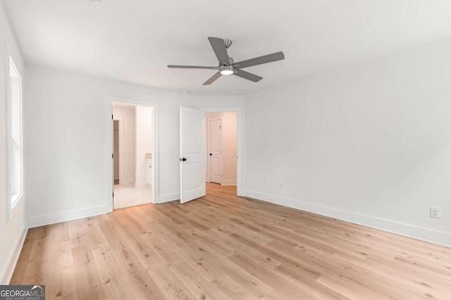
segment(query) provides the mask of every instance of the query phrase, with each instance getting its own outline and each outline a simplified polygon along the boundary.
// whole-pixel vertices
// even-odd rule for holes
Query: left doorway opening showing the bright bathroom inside
[[[114,102],[113,209],[153,202],[153,107]]]

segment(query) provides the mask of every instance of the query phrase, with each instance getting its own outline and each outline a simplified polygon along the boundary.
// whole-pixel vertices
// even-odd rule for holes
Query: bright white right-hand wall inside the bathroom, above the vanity
[[[136,182],[135,188],[147,187],[146,153],[152,153],[152,107],[136,106]]]

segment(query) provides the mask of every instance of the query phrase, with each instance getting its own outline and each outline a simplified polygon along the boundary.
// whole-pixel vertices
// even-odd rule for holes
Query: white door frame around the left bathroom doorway
[[[111,122],[113,119],[113,102],[117,103],[127,103],[132,105],[141,105],[147,107],[154,107],[154,118],[153,131],[154,131],[154,150],[152,152],[152,203],[158,203],[160,195],[160,185],[159,185],[159,105],[156,102],[137,100],[132,98],[123,98],[118,96],[106,96],[104,103],[104,136],[105,136],[105,181],[106,181],[106,212],[110,213],[113,211],[113,183],[114,183],[114,171],[113,171],[113,158],[111,153],[113,153],[113,130]]]

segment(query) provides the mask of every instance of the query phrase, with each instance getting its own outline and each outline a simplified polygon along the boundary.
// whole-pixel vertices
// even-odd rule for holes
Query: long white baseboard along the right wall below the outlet
[[[325,207],[314,203],[302,202],[299,200],[280,197],[278,195],[259,193],[254,190],[245,190],[244,192],[246,197],[254,198],[257,200],[279,204],[284,207],[301,209],[303,211],[309,211],[314,214],[321,214],[322,216],[329,216],[331,218],[340,219],[351,223],[357,223],[359,225],[368,226],[371,228],[381,229],[390,233],[397,233],[399,235],[404,235],[407,237],[414,237],[418,240],[424,240],[426,242],[433,242],[435,244],[441,244],[446,247],[451,247],[451,233],[445,233],[439,230],[433,230],[406,223],[400,223],[397,221],[381,219],[375,216],[357,214],[352,211],[335,209],[333,207]]]

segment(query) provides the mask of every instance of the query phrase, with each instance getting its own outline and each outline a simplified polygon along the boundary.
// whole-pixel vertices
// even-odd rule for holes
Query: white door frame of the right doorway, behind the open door
[[[242,162],[244,162],[242,151],[243,141],[243,126],[242,109],[241,107],[200,107],[199,110],[203,112],[236,112],[237,113],[237,195],[245,196],[243,193],[243,169]]]

